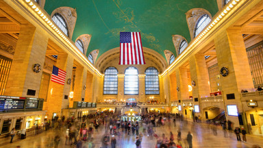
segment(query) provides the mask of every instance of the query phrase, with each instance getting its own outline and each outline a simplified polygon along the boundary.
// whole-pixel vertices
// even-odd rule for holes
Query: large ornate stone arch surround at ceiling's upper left
[[[64,17],[64,20],[66,21],[66,25],[68,27],[68,38],[72,39],[74,28],[77,21],[77,12],[76,9],[70,8],[70,7],[60,7],[53,10],[51,13],[51,17],[55,14],[59,13],[61,16]]]

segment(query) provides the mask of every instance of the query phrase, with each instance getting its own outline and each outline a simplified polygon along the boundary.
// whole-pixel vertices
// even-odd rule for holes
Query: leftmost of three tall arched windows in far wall
[[[117,95],[118,94],[118,71],[114,67],[109,67],[104,73],[104,88],[103,94]]]

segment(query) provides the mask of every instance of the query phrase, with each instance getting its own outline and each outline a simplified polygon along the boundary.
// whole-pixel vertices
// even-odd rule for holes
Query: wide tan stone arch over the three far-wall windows
[[[165,71],[165,69],[168,67],[168,64],[164,57],[160,55],[160,53],[154,51],[153,49],[149,49],[147,47],[143,47],[143,52],[145,56],[145,62],[144,65],[132,65],[138,69],[139,74],[144,75],[145,69],[147,69],[149,66],[154,66],[156,69],[158,69],[159,73],[162,73]],[[125,69],[127,69],[128,66],[131,65],[119,65],[119,58],[120,58],[120,47],[116,47],[114,49],[110,49],[103,53],[98,60],[95,63],[95,67],[103,73],[103,70],[108,66],[115,66],[116,69],[118,69],[118,74],[124,74]],[[117,66],[116,66],[117,65]]]

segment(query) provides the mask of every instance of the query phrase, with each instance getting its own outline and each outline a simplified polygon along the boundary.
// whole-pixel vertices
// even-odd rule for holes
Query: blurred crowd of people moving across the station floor
[[[61,147],[61,145],[71,145],[77,148],[92,148],[95,147],[94,135],[103,133],[100,143],[96,143],[96,147],[101,148],[115,148],[125,145],[124,138],[134,138],[134,147],[141,148],[145,137],[155,141],[155,148],[192,148],[192,132],[197,132],[194,124],[184,120],[181,114],[166,114],[166,113],[147,113],[140,116],[141,120],[127,120],[122,119],[120,115],[113,112],[98,112],[96,114],[89,114],[82,116],[82,118],[75,118],[72,116],[69,119],[55,118],[53,121],[45,121],[43,130],[53,130],[55,136],[51,147]],[[196,122],[200,122],[199,118],[195,118]],[[217,136],[217,129],[220,125],[208,123],[208,129]],[[227,130],[233,131],[231,121],[225,121],[222,124],[225,137],[227,137]],[[169,132],[156,132],[161,127],[168,126],[173,130]],[[100,128],[99,128],[100,127]],[[176,130],[175,130],[176,129]],[[100,130],[100,131],[99,131]],[[181,131],[188,131],[182,133]],[[192,131],[192,132],[191,132]],[[14,130],[10,136],[13,138]],[[237,140],[240,139],[247,142],[246,130],[241,130],[237,127],[234,130]],[[183,135],[183,136],[182,136]],[[229,135],[228,135],[229,136]],[[62,143],[63,141],[63,143]],[[98,141],[96,139],[96,141]],[[11,139],[12,142],[12,139]],[[50,143],[47,147],[50,147]],[[145,146],[143,146],[145,147]],[[258,147],[257,147],[258,148]]]

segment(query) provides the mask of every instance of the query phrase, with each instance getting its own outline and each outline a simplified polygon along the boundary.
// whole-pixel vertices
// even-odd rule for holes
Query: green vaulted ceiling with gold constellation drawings
[[[216,0],[46,0],[51,14],[60,7],[77,11],[73,41],[82,34],[92,36],[87,54],[99,49],[99,56],[119,47],[119,32],[141,32],[142,46],[175,53],[172,35],[179,34],[190,42],[186,12],[192,8],[218,12]]]

